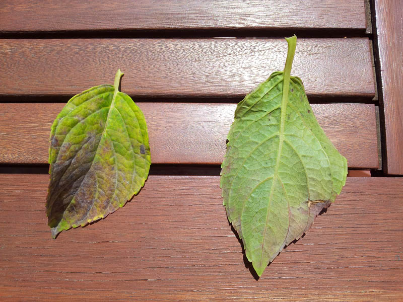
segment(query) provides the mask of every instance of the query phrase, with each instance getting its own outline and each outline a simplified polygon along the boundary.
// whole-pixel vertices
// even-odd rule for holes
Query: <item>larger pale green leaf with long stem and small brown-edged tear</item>
[[[290,76],[297,37],[286,40],[284,71],[238,104],[221,166],[228,219],[259,276],[307,232],[347,175],[347,160],[320,128],[301,80]]]

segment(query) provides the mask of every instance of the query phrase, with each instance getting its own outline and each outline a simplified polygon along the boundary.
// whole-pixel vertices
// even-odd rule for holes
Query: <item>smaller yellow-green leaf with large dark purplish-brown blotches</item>
[[[53,238],[122,207],[143,187],[151,157],[140,108],[115,83],[86,90],[54,120],[46,200]]]

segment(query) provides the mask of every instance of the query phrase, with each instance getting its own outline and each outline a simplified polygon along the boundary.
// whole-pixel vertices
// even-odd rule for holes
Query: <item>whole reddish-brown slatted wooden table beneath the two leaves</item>
[[[397,0],[0,5],[0,300],[403,300],[402,15]],[[350,177],[258,279],[219,165],[236,104],[283,68],[294,33],[292,73]],[[147,120],[149,179],[53,240],[51,123],[117,68]]]

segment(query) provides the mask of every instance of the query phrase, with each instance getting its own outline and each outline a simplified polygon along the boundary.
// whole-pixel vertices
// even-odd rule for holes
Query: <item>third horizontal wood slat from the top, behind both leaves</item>
[[[149,129],[153,164],[220,165],[236,104],[138,102]],[[0,104],[0,163],[46,164],[50,127],[64,104]],[[375,106],[312,104],[350,168],[378,167]]]

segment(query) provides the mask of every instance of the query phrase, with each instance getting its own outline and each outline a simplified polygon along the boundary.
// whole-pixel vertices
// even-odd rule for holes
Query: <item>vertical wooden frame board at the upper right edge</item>
[[[403,174],[403,3],[375,1],[382,104],[385,123],[385,170]]]

